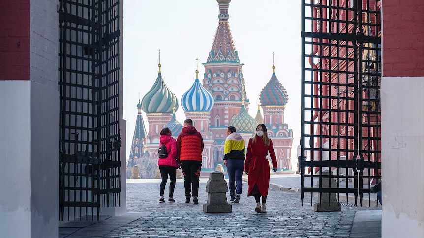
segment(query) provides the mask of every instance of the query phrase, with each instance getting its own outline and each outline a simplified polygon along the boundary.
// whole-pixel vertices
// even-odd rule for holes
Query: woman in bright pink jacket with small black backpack
[[[177,177],[177,142],[176,140],[171,136],[172,132],[169,130],[169,128],[165,127],[160,131],[160,145],[165,145],[168,156],[166,158],[159,158],[158,159],[158,165],[159,165],[159,171],[160,176],[162,177],[162,182],[160,183],[160,197],[159,197],[159,203],[165,203],[165,198],[163,197],[163,194],[165,192],[165,185],[168,181],[168,175],[171,179],[171,184],[169,185],[169,198],[168,202],[172,203],[175,202],[173,195],[174,195],[174,189],[175,189],[175,180]],[[180,162],[178,162],[180,163]]]

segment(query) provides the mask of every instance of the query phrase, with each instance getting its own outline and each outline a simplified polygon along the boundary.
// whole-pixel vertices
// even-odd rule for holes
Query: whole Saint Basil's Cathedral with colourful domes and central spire
[[[249,115],[249,100],[245,92],[245,80],[235,49],[228,23],[228,7],[231,0],[217,0],[219,24],[207,61],[203,63],[205,73],[196,78],[192,86],[182,95],[181,101],[165,84],[158,65],[158,75],[149,92],[137,104],[138,115],[132,140],[128,166],[136,164],[137,159],[158,158],[160,131],[168,127],[177,138],[182,124],[177,121],[175,112],[184,110],[186,118],[193,120],[193,126],[204,140],[202,168],[214,169],[222,164],[224,143],[228,126],[234,126],[245,140],[254,135],[256,126],[264,123],[268,136],[273,141],[280,172],[291,171],[291,148],[293,132],[284,123],[284,108],[288,101],[285,88],[273,74],[259,94],[260,104],[253,118]],[[247,85],[248,86],[248,85]],[[260,107],[262,107],[263,115]],[[148,127],[145,127],[142,110],[146,113]],[[142,158],[143,157],[143,158]]]

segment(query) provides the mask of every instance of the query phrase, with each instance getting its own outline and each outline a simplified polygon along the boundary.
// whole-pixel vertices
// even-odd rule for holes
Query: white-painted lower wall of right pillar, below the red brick
[[[424,237],[424,77],[382,77],[382,237]]]

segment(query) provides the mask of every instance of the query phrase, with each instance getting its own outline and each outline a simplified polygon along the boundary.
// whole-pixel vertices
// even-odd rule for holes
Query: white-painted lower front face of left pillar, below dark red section
[[[31,237],[30,82],[0,81],[0,234]]]

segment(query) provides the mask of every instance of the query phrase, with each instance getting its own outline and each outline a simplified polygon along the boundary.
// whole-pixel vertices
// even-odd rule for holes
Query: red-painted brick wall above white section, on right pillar
[[[424,1],[382,4],[383,76],[424,76]]]

